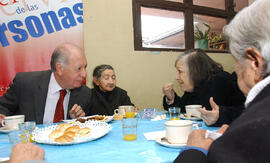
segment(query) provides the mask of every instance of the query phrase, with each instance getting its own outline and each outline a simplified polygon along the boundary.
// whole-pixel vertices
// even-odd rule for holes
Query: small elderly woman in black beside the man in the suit
[[[110,65],[99,65],[93,71],[90,115],[113,115],[121,105],[133,105],[127,92],[116,86],[116,75]]]

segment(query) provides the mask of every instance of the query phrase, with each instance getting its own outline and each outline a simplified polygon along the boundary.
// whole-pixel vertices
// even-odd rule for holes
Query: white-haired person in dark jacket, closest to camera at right
[[[224,28],[235,59],[238,85],[247,96],[244,112],[218,131],[189,135],[187,148],[175,162],[266,163],[270,161],[270,1],[256,0]],[[208,153],[207,153],[208,151]]]

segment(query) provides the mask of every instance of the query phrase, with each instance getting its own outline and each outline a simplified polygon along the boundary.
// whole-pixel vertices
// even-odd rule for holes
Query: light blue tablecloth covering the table
[[[91,163],[169,163],[179,154],[181,149],[168,148],[147,140],[143,133],[165,130],[164,122],[139,119],[137,140],[124,141],[121,121],[112,121],[109,124],[112,130],[97,140],[68,146],[38,144],[45,150],[45,161],[49,163],[91,162]],[[207,127],[202,121],[200,129],[215,131],[217,127]],[[44,126],[44,125],[41,125]],[[40,126],[39,126],[40,127]],[[0,133],[0,158],[9,157],[10,146],[8,135]]]

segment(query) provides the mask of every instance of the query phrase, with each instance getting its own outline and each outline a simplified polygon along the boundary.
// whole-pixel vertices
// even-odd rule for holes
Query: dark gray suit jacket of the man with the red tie
[[[13,84],[0,98],[0,114],[24,114],[25,121],[43,123],[44,109],[48,92],[51,71],[21,72],[18,73]],[[80,105],[88,112],[91,91],[85,85],[70,90],[68,110],[74,104]],[[67,115],[69,119],[69,114]]]

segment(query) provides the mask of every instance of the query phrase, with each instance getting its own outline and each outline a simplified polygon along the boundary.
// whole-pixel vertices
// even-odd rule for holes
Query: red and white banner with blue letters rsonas
[[[0,96],[17,72],[50,69],[63,42],[83,48],[82,0],[0,0]]]

